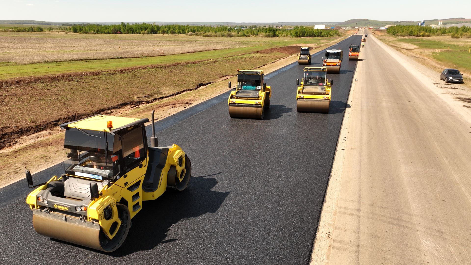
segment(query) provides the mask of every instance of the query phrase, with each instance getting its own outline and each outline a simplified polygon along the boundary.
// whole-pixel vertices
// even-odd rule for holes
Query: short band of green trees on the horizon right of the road
[[[453,26],[453,27],[439,27],[432,28],[430,26],[418,25],[397,25],[390,26],[386,32],[392,36],[415,36],[415,37],[430,37],[440,35],[450,35],[452,38],[471,38],[471,27],[467,26]]]

